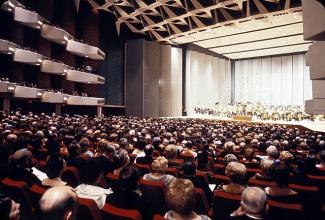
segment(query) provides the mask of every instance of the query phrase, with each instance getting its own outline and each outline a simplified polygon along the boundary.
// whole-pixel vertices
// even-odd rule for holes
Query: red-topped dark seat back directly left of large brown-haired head
[[[140,189],[143,194],[143,198],[145,201],[148,210],[151,210],[150,213],[153,214],[161,214],[164,215],[167,211],[167,205],[165,202],[165,193],[166,189],[163,183],[140,180]]]

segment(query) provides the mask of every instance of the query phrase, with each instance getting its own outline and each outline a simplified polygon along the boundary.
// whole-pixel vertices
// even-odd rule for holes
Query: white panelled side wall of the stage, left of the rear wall
[[[231,101],[231,66],[225,59],[197,51],[186,51],[186,111],[197,106]]]

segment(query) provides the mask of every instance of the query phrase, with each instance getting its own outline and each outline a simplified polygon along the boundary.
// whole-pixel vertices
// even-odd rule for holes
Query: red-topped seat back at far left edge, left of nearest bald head
[[[33,205],[29,195],[28,186],[23,181],[15,181],[9,178],[2,180],[0,184],[1,190],[3,190],[11,199],[20,203],[20,215],[24,216],[24,219],[33,218]]]

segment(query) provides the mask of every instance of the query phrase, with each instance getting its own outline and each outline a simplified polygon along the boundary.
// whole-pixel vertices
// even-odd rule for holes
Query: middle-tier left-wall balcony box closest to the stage
[[[67,73],[67,80],[80,82],[80,83],[89,83],[89,84],[104,84],[105,78],[96,74],[77,71],[69,69]]]

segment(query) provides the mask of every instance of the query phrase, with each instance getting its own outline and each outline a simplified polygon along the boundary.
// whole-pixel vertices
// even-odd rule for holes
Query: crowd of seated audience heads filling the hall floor
[[[243,187],[239,192],[246,213],[266,212],[267,201],[263,190],[244,187],[250,164],[257,163],[261,168],[259,178],[272,179],[280,188],[288,186],[293,172],[301,180],[317,166],[325,166],[324,135],[275,124],[17,112],[1,115],[0,142],[1,169],[14,166],[31,170],[35,166],[34,157],[38,161],[46,160],[47,177],[55,179],[61,177],[66,163],[77,164],[78,158],[86,158],[79,164],[82,183],[97,185],[103,173],[114,172],[121,180],[115,191],[138,189],[140,172],[130,166],[133,162],[130,154],[152,157],[152,177],[159,178],[166,175],[170,160],[182,154],[191,155],[194,162],[185,162],[181,167],[185,179],[173,177],[166,185],[166,202],[181,216],[191,214],[195,204],[195,188],[190,177],[195,176],[197,169],[214,172],[209,168],[209,158],[223,158],[224,174],[230,184],[221,189]],[[101,165],[100,157],[108,159],[111,170]],[[297,165],[296,170],[292,169],[293,164]],[[1,175],[4,178],[8,173]],[[46,219],[62,213],[73,214],[76,193],[67,186],[60,187],[47,190],[40,201]],[[15,212],[14,201],[1,198],[4,204],[1,214]]]

